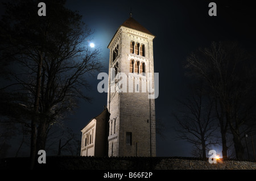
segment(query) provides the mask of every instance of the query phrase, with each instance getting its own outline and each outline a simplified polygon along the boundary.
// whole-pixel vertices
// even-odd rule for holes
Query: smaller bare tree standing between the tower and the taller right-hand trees
[[[193,90],[191,96],[180,101],[179,113],[174,113],[178,127],[177,138],[186,140],[198,149],[197,154],[206,158],[210,145],[218,144],[214,103],[204,95],[202,85]]]

